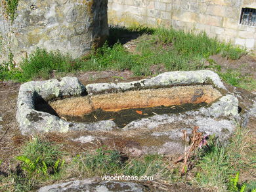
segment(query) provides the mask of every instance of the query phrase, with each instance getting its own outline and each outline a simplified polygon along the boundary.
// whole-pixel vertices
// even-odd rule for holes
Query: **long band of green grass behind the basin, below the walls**
[[[137,42],[137,51],[128,52],[119,41],[125,32],[142,35]],[[24,58],[19,69],[10,69],[12,61],[1,64],[0,80],[31,81],[49,79],[53,73],[76,73],[77,71],[131,70],[134,75],[152,75],[150,67],[164,66],[167,71],[205,69],[205,58],[221,53],[238,59],[245,50],[230,44],[220,43],[205,33],[184,33],[175,29],[111,28],[108,42],[92,54],[73,59],[60,52],[35,50]]]

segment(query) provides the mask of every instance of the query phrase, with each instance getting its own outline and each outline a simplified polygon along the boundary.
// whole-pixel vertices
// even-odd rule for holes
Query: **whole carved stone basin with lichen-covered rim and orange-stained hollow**
[[[136,118],[129,119],[132,114]],[[181,132],[179,127],[200,126],[204,134],[221,136],[223,131],[232,132],[237,115],[237,98],[228,94],[216,73],[202,70],[86,86],[75,77],[31,81],[20,86],[16,117],[22,134],[154,130],[160,136],[163,130],[175,135]],[[120,123],[117,116],[129,121]]]

